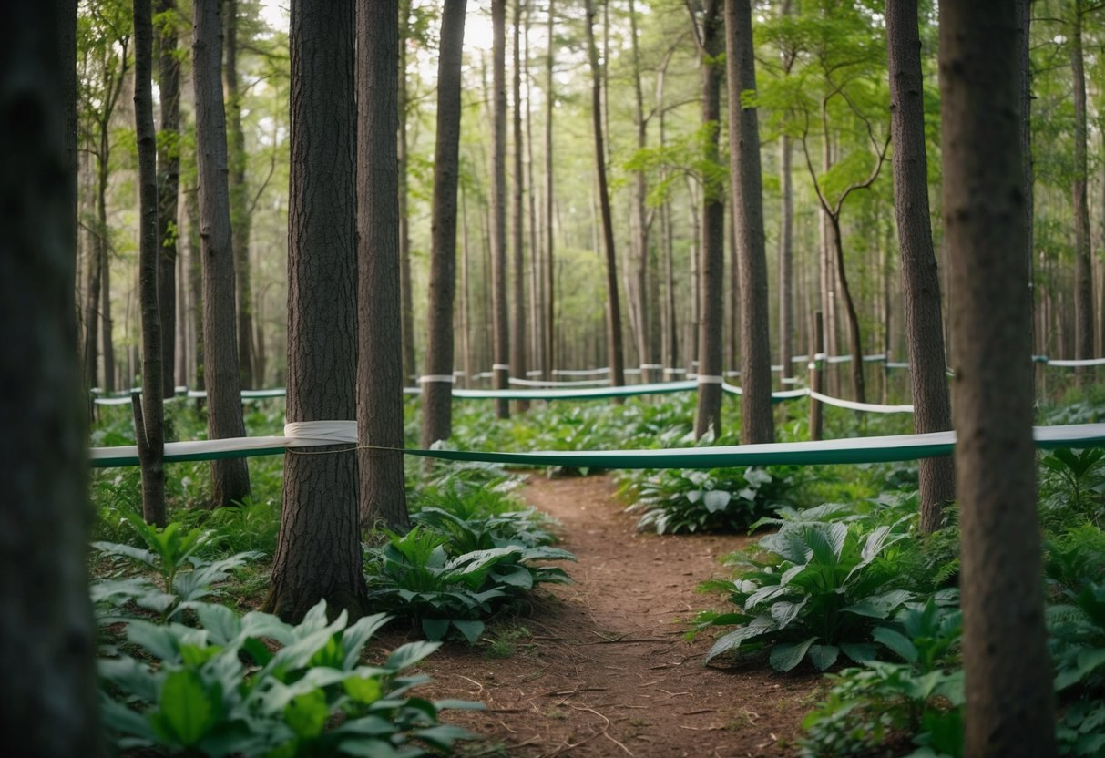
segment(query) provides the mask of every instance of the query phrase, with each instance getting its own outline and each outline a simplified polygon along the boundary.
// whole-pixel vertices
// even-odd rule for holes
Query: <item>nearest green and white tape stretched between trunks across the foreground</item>
[[[1105,424],[1036,427],[1033,429],[1033,438],[1036,446],[1044,450],[1105,448]],[[354,444],[355,442],[355,439],[349,439],[345,444]],[[334,439],[319,441],[309,438],[292,439],[285,436],[170,442],[165,446],[164,460],[168,463],[175,463],[278,455],[284,453],[290,445],[306,448],[335,444],[343,443]],[[532,453],[471,450],[404,450],[402,452],[408,455],[445,461],[504,463],[527,467],[718,469],[771,464],[813,465],[915,461],[922,457],[948,455],[954,448],[955,432],[932,432],[928,434],[850,438],[819,442],[781,442],[665,450],[537,451]],[[138,465],[138,453],[134,445],[94,448],[91,452],[91,463],[96,469]]]

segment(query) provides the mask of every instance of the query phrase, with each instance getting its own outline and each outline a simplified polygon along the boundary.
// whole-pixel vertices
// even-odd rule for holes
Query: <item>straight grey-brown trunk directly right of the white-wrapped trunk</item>
[[[463,13],[463,1],[456,4]],[[398,15],[398,0],[359,3],[357,13],[356,165],[364,169],[357,173],[357,441],[361,525],[406,529],[410,518],[401,452]],[[446,373],[452,375],[452,348],[449,359]]]

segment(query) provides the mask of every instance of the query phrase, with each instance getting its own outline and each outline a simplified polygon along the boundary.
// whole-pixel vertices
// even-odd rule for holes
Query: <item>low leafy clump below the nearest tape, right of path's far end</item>
[[[789,477],[798,472],[798,466],[645,470],[624,477],[622,494],[634,501],[627,510],[641,513],[638,529],[736,531],[787,503]]]

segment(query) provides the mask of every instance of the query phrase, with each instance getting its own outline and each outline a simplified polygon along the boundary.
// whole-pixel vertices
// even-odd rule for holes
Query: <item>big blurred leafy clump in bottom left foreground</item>
[[[319,602],[293,627],[267,613],[194,609],[199,628],[131,621],[127,640],[141,654],[101,660],[101,717],[119,750],[415,758],[449,752],[469,737],[438,715],[474,704],[407,695],[427,678],[403,670],[436,644],[409,643],[382,665],[360,664],[383,614],[347,624],[343,612],[327,623]]]

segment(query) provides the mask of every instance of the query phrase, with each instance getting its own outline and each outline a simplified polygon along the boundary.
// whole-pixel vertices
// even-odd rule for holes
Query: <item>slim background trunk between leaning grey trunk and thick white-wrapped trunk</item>
[[[227,87],[227,147],[230,180],[230,222],[234,251],[238,305],[238,365],[242,387],[253,387],[253,293],[250,286],[250,186],[245,181],[245,133],[242,130],[242,93],[238,77],[238,0],[223,0],[223,43]]]

